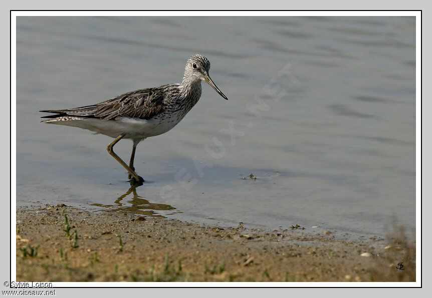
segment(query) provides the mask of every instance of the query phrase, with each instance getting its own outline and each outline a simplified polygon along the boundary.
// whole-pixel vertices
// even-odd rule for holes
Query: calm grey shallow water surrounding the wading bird
[[[414,227],[414,33],[414,17],[18,17],[17,205],[352,237],[384,235],[393,215]],[[135,192],[111,138],[39,123],[40,109],[180,82],[196,52],[229,100],[203,84],[140,143]]]

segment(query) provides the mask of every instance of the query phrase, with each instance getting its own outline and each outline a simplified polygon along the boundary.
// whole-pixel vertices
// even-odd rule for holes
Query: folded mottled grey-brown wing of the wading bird
[[[159,89],[141,89],[128,92],[106,101],[76,108],[42,110],[43,112],[58,113],[60,115],[76,115],[96,117],[103,120],[120,117],[134,117],[149,119],[164,110],[163,91]],[[50,115],[45,117],[56,117]]]

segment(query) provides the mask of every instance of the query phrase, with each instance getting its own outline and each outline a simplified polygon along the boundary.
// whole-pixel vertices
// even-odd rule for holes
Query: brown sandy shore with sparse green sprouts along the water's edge
[[[400,262],[404,270],[396,268]],[[415,244],[400,229],[387,239],[353,241],[301,228],[220,228],[65,205],[21,207],[17,280],[415,281]]]

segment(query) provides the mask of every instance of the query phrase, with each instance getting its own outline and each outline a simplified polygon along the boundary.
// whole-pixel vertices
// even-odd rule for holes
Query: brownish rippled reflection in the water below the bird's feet
[[[151,203],[148,200],[142,198],[136,193],[136,187],[138,185],[133,185],[126,191],[126,193],[120,195],[113,205],[104,205],[99,203],[91,204],[93,206],[110,208],[113,211],[127,211],[133,214],[142,214],[151,217],[162,217],[166,218],[162,214],[159,214],[157,210],[174,210],[175,208],[171,205]],[[124,198],[132,193],[130,200],[122,202]]]

